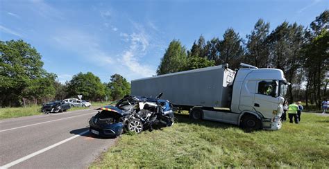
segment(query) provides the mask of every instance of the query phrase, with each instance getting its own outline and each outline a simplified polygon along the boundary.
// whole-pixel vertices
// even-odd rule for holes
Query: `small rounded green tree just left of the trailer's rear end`
[[[122,75],[114,74],[111,75],[108,89],[110,90],[112,100],[118,100],[130,94],[130,83]]]

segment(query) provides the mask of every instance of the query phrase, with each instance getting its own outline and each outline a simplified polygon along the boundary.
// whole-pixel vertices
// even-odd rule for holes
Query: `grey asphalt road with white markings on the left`
[[[116,139],[88,132],[94,109],[0,121],[0,168],[87,168]]]

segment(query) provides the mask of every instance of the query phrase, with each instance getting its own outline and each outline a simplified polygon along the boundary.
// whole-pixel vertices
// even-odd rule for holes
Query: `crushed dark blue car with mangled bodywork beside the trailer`
[[[90,133],[97,136],[115,137],[123,132],[139,134],[153,127],[167,127],[174,124],[174,112],[168,100],[125,96],[115,105],[101,107],[100,112],[90,118]]]

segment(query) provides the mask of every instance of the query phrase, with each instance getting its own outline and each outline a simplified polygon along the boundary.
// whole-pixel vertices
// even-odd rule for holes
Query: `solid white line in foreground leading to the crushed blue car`
[[[75,136],[71,136],[71,137],[68,138],[68,139],[65,139],[65,140],[63,140],[63,141],[60,141],[60,142],[55,143],[55,144],[53,144],[53,145],[50,145],[50,146],[48,146],[47,148],[44,148],[44,149],[39,150],[39,151],[37,151],[37,152],[33,152],[32,154],[28,154],[26,157],[22,157],[22,158],[20,158],[20,159],[17,159],[17,160],[15,160],[15,161],[12,161],[12,162],[10,162],[10,163],[7,163],[6,165],[1,166],[0,168],[1,168],[1,169],[2,169],[2,168],[10,168],[10,167],[12,167],[12,166],[15,166],[16,164],[18,164],[18,163],[22,163],[23,161],[26,161],[27,159],[31,159],[32,157],[35,157],[36,155],[41,154],[42,152],[46,152],[47,150],[51,150],[52,148],[55,148],[55,147],[57,147],[58,145],[61,145],[62,143],[65,143],[65,142],[67,142],[67,141],[70,141],[71,139],[75,139],[75,138],[78,137],[78,136],[82,136],[83,134],[86,134],[87,132],[89,132],[89,130],[86,130],[85,132],[81,132],[81,133],[79,133],[79,134],[77,134],[77,135],[75,135]]]

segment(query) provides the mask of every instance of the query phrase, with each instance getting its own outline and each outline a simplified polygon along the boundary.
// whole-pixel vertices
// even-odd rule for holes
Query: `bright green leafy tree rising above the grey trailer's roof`
[[[187,60],[186,49],[179,40],[172,40],[161,58],[160,65],[157,69],[157,74],[167,74],[178,72],[184,68]]]

